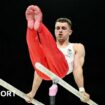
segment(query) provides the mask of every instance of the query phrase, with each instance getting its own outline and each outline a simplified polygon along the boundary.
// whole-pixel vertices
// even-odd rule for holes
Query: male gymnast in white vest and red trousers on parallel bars
[[[27,7],[25,16],[27,20],[26,41],[30,59],[35,70],[31,91],[27,94],[31,103],[33,97],[43,80],[51,80],[48,76],[35,68],[40,62],[60,78],[73,73],[79,92],[84,95],[82,102],[86,103],[90,95],[84,87],[83,64],[85,48],[81,43],[69,42],[72,34],[72,22],[68,18],[58,18],[55,22],[55,37],[42,22],[41,9],[36,5]]]

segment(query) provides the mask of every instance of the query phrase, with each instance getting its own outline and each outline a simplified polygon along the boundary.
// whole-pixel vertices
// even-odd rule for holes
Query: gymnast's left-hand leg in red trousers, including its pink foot
[[[31,58],[33,67],[36,62],[40,62],[46,67],[48,67],[46,57],[42,50],[42,45],[38,39],[37,31],[34,29],[35,19],[33,17],[35,15],[34,13],[35,8],[36,8],[35,6],[31,5],[26,10],[26,19],[27,19],[27,27],[28,27],[26,40],[27,40],[28,50],[29,50],[29,54],[30,54],[30,58]],[[37,24],[35,24],[35,26],[36,25]],[[48,78],[47,76],[42,74],[40,71],[37,71],[37,72],[38,74],[40,74],[40,77]]]

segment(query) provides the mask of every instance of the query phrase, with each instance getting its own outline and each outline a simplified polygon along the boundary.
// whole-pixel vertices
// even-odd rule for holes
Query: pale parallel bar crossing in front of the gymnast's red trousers
[[[63,79],[61,79],[60,77],[58,77],[57,75],[55,75],[53,72],[51,72],[49,69],[47,69],[46,67],[44,67],[42,64],[40,63],[36,63],[35,67],[40,70],[42,73],[46,74],[48,77],[50,77],[52,80],[55,80],[58,84],[60,84],[63,88],[65,88],[66,90],[68,90],[69,92],[73,93],[75,96],[77,96],[78,98],[84,98],[84,96],[80,95],[80,92],[78,90],[76,90],[74,87],[72,87],[70,84],[68,84],[67,82],[65,82]],[[91,99],[89,99],[89,101],[87,102],[87,104],[89,105],[98,105],[97,103],[95,103],[94,101],[92,101]]]

